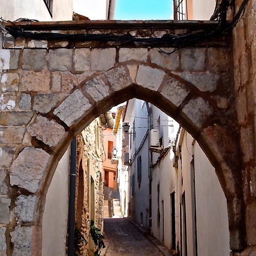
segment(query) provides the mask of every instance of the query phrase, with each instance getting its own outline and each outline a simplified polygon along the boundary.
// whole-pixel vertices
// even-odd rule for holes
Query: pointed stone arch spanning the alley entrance
[[[54,100],[44,107],[47,111],[38,108],[34,114],[26,134],[32,140],[22,148],[10,169],[11,185],[19,187],[21,193],[37,197],[33,221],[30,225],[15,227],[19,233],[29,232],[32,253],[40,255],[40,239],[35,238],[41,237],[45,191],[67,146],[95,117],[134,97],[153,103],[197,139],[216,168],[227,198],[230,248],[241,249],[244,219],[241,156],[238,132],[233,126],[236,112],[232,103],[220,108],[222,92],[218,88],[212,95],[205,89],[209,88],[209,80],[215,83],[217,79],[220,77],[209,72],[195,73],[190,77],[186,72],[172,72],[156,63],[133,60],[93,73],[58,100],[52,94]],[[223,83],[220,82],[218,87],[224,86]],[[23,168],[25,160],[26,170]],[[24,171],[26,180],[21,178]],[[23,209],[18,212],[18,215],[22,214]]]

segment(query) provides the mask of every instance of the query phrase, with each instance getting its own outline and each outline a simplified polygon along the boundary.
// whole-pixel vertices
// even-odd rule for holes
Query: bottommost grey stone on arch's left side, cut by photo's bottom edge
[[[14,231],[10,232],[13,243],[12,255],[31,256],[32,228],[16,226]]]

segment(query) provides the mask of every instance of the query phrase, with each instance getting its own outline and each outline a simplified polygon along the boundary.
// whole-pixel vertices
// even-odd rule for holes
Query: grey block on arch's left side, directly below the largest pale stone
[[[19,222],[32,222],[35,208],[36,196],[19,196],[14,207]]]

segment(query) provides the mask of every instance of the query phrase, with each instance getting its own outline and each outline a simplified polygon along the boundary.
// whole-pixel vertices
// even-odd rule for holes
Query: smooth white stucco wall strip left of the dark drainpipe
[[[69,154],[60,159],[47,192],[42,217],[42,256],[66,255],[69,205]]]

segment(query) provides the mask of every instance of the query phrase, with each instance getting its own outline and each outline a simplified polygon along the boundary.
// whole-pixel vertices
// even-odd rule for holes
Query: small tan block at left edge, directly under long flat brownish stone
[[[24,127],[0,127],[0,144],[22,143],[26,128]]]

